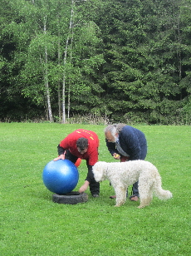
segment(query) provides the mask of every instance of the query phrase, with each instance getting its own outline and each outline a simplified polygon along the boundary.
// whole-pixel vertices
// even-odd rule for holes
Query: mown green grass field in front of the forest
[[[84,204],[55,204],[42,170],[56,157],[56,146],[77,128],[96,131],[99,160],[113,161],[105,146],[104,126],[0,123],[0,255],[122,256],[190,255],[190,126],[135,126],[148,140],[148,155],[173,199],[154,198],[138,209],[129,199],[120,208],[109,199],[109,181],[100,198]],[[78,190],[86,178],[79,167]]]

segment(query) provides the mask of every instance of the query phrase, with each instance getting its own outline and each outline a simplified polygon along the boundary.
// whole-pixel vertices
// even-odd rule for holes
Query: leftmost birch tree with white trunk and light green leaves
[[[53,121],[53,115],[51,110],[51,87],[55,88],[55,84],[57,84],[57,94],[58,94],[58,108],[59,108],[59,116],[61,113],[61,96],[60,96],[60,71],[61,71],[61,37],[64,38],[65,35],[65,23],[66,23],[66,5],[64,2],[62,6],[65,8],[61,8],[61,2],[58,0],[55,1],[35,1],[33,4],[33,13],[31,12],[31,16],[29,19],[33,21],[37,26],[34,28],[34,37],[29,47],[28,58],[25,68],[22,71],[22,78],[25,77],[27,83],[30,83],[29,87],[32,87],[34,84],[32,81],[35,81],[34,77],[25,76],[27,70],[32,69],[32,66],[36,66],[38,71],[42,71],[42,80],[44,81],[44,94],[47,98],[44,101],[44,106],[47,109],[47,116],[49,121]],[[66,3],[66,2],[65,2]],[[53,18],[56,17],[54,20]],[[63,18],[64,17],[64,18]],[[63,25],[61,25],[63,24]],[[69,39],[67,39],[69,40]],[[47,42],[46,42],[47,41]],[[57,43],[56,43],[57,42]],[[35,43],[37,43],[35,47]],[[67,45],[67,44],[66,44]],[[44,51],[42,50],[44,47]],[[67,50],[67,47],[66,47]],[[57,52],[57,53],[56,53]],[[37,60],[37,56],[40,58],[40,62]],[[57,57],[57,58],[56,58]],[[37,62],[32,63],[30,60],[37,60]],[[66,62],[66,57],[64,57],[64,62]],[[56,62],[55,62],[56,60]],[[37,63],[39,66],[37,67]],[[62,64],[63,66],[63,64]],[[40,74],[39,74],[40,75]],[[29,79],[30,77],[30,79]],[[38,76],[38,79],[40,77]],[[56,81],[57,79],[57,81]],[[65,78],[64,78],[65,79]],[[63,81],[64,81],[63,79]],[[37,85],[40,85],[42,82],[38,81]],[[37,90],[42,91],[42,86],[34,85]],[[50,87],[51,85],[51,87]],[[28,87],[26,86],[23,89],[23,93],[25,96],[32,96],[33,93],[29,93]],[[41,99],[42,93],[37,93],[38,103],[42,102]],[[65,99],[65,96],[62,96]],[[65,108],[64,108],[65,109]]]

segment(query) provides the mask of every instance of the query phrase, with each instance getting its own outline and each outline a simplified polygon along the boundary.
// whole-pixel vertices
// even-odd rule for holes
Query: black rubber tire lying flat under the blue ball
[[[77,191],[71,191],[67,194],[53,194],[52,201],[58,204],[79,204],[85,203],[88,200],[86,193],[79,193]]]

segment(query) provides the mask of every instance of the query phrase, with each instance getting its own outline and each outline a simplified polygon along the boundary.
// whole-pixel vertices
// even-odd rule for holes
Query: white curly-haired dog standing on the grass
[[[126,190],[139,180],[140,206],[144,208],[153,199],[153,194],[159,199],[170,199],[173,195],[169,190],[163,190],[161,177],[156,167],[148,161],[132,160],[121,163],[97,162],[93,166],[97,182],[110,180],[116,194],[115,206],[125,204]]]

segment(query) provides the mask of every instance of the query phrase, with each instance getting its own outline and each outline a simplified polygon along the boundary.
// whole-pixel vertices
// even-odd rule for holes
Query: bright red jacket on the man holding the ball
[[[88,149],[85,154],[78,152],[76,146],[76,140],[81,137],[88,140]],[[71,154],[76,155],[78,158],[89,160],[89,165],[95,165],[98,161],[99,139],[96,133],[92,130],[75,130],[67,135],[64,140],[61,140],[60,146],[65,150],[70,150]]]

